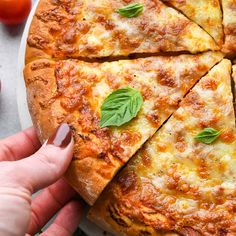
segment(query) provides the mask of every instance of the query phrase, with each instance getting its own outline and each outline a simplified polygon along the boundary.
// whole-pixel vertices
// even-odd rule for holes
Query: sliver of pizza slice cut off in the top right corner
[[[236,54],[236,0],[222,0],[225,43],[223,51]]]

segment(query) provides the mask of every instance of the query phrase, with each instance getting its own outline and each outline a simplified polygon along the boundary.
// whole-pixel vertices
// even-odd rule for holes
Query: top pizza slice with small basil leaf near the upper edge
[[[41,0],[29,31],[26,62],[219,49],[197,24],[160,0],[135,3]]]

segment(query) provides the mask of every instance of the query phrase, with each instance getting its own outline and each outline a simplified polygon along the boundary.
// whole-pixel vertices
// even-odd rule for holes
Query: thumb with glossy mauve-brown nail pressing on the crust
[[[61,124],[34,155],[14,163],[20,185],[35,192],[56,182],[72,160],[73,145],[69,125]]]

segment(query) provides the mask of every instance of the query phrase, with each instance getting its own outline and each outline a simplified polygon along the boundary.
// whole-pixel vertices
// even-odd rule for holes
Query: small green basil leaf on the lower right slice
[[[205,128],[194,138],[202,143],[211,144],[220,136],[221,133],[222,131],[218,131],[213,128]]]

